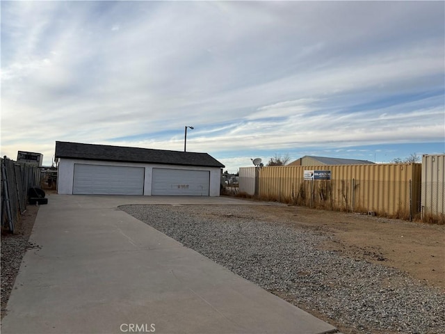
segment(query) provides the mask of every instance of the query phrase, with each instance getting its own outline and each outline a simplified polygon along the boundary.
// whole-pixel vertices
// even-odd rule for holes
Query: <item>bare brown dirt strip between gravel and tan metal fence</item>
[[[259,206],[264,218],[331,234],[321,245],[405,271],[445,292],[445,226],[296,206]]]

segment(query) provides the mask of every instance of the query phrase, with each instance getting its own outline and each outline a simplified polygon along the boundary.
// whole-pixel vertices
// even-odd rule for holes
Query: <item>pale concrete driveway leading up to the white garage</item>
[[[2,333],[334,333],[335,328],[118,209],[234,198],[50,195]]]

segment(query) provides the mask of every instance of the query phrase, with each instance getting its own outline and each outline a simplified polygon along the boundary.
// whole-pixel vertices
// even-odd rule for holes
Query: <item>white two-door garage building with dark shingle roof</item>
[[[60,194],[219,196],[224,165],[207,153],[56,141]]]

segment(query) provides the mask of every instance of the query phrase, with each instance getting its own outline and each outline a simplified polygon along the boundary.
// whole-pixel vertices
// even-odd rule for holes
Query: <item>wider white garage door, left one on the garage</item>
[[[74,164],[74,194],[143,195],[145,168]]]

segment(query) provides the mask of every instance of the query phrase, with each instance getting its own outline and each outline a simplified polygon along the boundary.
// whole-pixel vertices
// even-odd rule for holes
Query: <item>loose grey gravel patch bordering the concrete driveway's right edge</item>
[[[318,248],[323,232],[254,220],[254,206],[120,208],[343,333],[445,333],[443,292]]]

